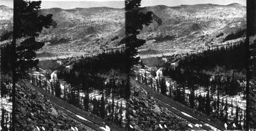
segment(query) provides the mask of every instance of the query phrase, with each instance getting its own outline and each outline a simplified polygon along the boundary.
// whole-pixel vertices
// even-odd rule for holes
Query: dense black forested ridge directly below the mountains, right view
[[[179,61],[179,69],[195,71],[215,71],[216,67],[223,70],[244,70],[244,42],[237,45],[229,44],[214,50],[187,54]]]

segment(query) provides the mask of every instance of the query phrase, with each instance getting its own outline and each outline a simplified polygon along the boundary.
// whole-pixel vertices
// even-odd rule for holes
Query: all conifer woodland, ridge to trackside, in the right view
[[[246,80],[238,74],[224,75],[234,72],[244,73],[243,42],[226,48],[207,50],[196,54],[187,54],[181,58],[178,67],[163,68],[163,76],[156,76],[155,72],[137,73],[137,80],[151,86],[155,91],[169,96],[188,107],[195,108],[208,116],[221,120],[228,125],[235,123],[236,129],[245,126],[245,111],[238,105],[228,104],[227,100],[220,100],[220,95],[245,94]],[[238,55],[240,54],[240,55]],[[234,62],[237,61],[237,62]],[[216,67],[221,67],[215,72]],[[164,76],[170,78],[169,86],[166,85]],[[154,82],[155,81],[155,82]],[[202,87],[206,93],[202,96],[196,91]],[[189,90],[190,93],[186,93]],[[213,96],[217,96],[217,99]],[[228,112],[228,107],[233,112]],[[236,113],[234,113],[236,112]],[[231,126],[230,129],[233,129]]]

